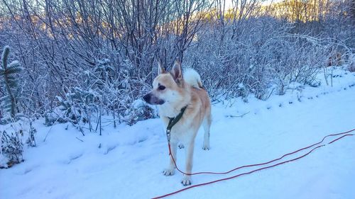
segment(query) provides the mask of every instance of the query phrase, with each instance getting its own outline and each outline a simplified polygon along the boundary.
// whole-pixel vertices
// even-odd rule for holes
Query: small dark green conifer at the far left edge
[[[16,98],[18,97],[18,78],[17,75],[21,73],[22,67],[18,61],[13,61],[8,64],[10,54],[10,47],[5,46],[4,51],[1,55],[0,76],[1,81],[4,82],[4,91],[6,95],[1,97],[1,108],[6,112],[9,112],[11,118],[15,118],[17,113],[16,109]]]

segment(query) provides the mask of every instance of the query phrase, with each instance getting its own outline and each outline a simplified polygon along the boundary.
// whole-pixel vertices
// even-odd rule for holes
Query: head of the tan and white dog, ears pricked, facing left
[[[143,99],[153,105],[174,104],[182,100],[183,93],[180,62],[175,62],[170,72],[166,72],[163,66],[158,64],[158,76],[153,81],[153,90],[143,96]]]

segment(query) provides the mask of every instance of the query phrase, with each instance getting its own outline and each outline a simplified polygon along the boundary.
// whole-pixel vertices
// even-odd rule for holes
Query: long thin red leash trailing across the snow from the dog
[[[309,149],[310,147],[314,147],[315,145],[322,143],[327,137],[333,137],[333,136],[337,136],[337,135],[342,135],[341,137],[338,137],[337,139],[334,139],[334,140],[332,140],[331,142],[328,142],[328,143],[327,143],[327,144],[332,144],[332,143],[336,142],[337,140],[342,139],[343,137],[354,135],[354,134],[346,134],[346,133],[353,132],[353,131],[355,131],[355,129],[349,130],[349,131],[346,131],[346,132],[340,132],[340,133],[337,133],[337,134],[327,135],[327,136],[324,136],[323,139],[322,139],[322,141],[320,141],[320,142],[317,142],[317,143],[315,143],[315,144],[312,144],[312,145],[310,145],[310,146],[308,146],[308,147],[304,147],[304,148],[302,148],[302,149],[298,149],[298,150],[296,150],[295,152],[290,152],[290,153],[288,153],[288,154],[284,154],[282,157],[280,157],[280,158],[278,158],[278,159],[273,159],[273,160],[271,160],[271,161],[267,161],[267,162],[264,162],[264,163],[261,163],[261,164],[250,164],[250,165],[245,165],[245,166],[239,166],[239,167],[237,167],[237,168],[235,168],[235,169],[231,169],[230,171],[226,171],[226,172],[197,172],[197,173],[192,173],[192,174],[186,174],[185,172],[180,171],[180,169],[178,169],[178,166],[176,165],[176,162],[175,162],[175,159],[173,158],[173,156],[172,156],[172,159],[173,159],[173,161],[174,161],[174,164],[175,164],[176,169],[177,169],[178,171],[180,171],[180,173],[185,174],[185,175],[197,175],[197,174],[229,174],[231,171],[236,171],[237,169],[242,169],[242,168],[251,167],[251,166],[261,166],[261,165],[265,165],[265,164],[270,164],[270,163],[273,162],[273,161],[278,161],[278,160],[283,159],[284,157],[287,157],[287,156],[289,156],[289,155],[291,155],[291,154],[295,154],[295,153],[300,152],[300,151],[302,151],[302,150]],[[295,161],[295,160],[297,160],[297,159],[301,159],[302,157],[306,157],[308,154],[310,154],[311,152],[315,151],[315,149],[318,149],[318,148],[320,148],[320,147],[324,147],[324,145],[325,145],[325,144],[322,144],[322,145],[320,145],[320,146],[318,146],[318,147],[315,147],[315,148],[311,149],[310,152],[307,152],[306,154],[303,154],[303,155],[300,156],[300,157],[296,157],[295,159],[290,159],[290,160],[282,161],[282,162],[280,162],[280,163],[278,163],[278,164],[273,164],[273,165],[271,165],[271,166],[265,166],[265,167],[262,167],[262,168],[259,168],[259,169],[255,169],[255,170],[253,170],[253,171],[249,171],[249,172],[246,172],[246,173],[238,174],[238,175],[236,175],[236,176],[231,176],[231,177],[228,177],[228,178],[221,178],[221,179],[218,179],[218,180],[216,180],[216,181],[209,181],[209,182],[207,182],[207,183],[196,184],[196,185],[193,185],[193,186],[189,186],[189,187],[187,187],[187,188],[182,188],[182,189],[180,189],[180,190],[178,190],[178,191],[175,191],[175,192],[172,192],[172,193],[168,193],[168,194],[165,194],[165,195],[160,195],[160,196],[155,197],[155,198],[165,198],[165,197],[167,197],[167,196],[174,195],[174,194],[176,194],[176,193],[180,193],[180,192],[182,192],[182,191],[186,191],[187,189],[195,188],[195,187],[197,187],[197,186],[205,186],[205,185],[208,185],[208,184],[217,183],[217,182],[219,182],[219,181],[226,181],[226,180],[229,180],[229,179],[231,179],[231,178],[237,178],[237,177],[239,177],[239,176],[244,176],[244,175],[247,175],[247,174],[252,174],[252,173],[254,173],[254,172],[256,172],[256,171],[261,171],[261,170],[264,170],[264,169],[269,169],[269,168],[271,168],[271,167],[278,166],[278,165],[280,165],[280,164],[285,164],[285,163],[288,163],[288,162],[290,162],[290,161]],[[171,155],[170,143],[168,144],[168,147],[169,147],[169,155]],[[155,199],[155,198],[153,198],[153,199]]]

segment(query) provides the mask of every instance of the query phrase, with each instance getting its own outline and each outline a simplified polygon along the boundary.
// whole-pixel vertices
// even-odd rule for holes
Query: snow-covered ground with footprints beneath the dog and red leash
[[[200,132],[193,171],[227,171],[268,161],[319,142],[324,135],[355,128],[355,74],[337,70],[334,76],[333,87],[323,83],[300,91],[295,84],[284,96],[273,95],[267,101],[250,97],[244,103],[236,98],[212,106],[211,149],[202,150]],[[183,188],[182,174],[161,174],[168,165],[168,148],[159,119],[116,129],[110,124],[102,136],[90,132],[82,136],[72,125],[45,127],[43,122],[34,125],[38,147],[26,147],[23,163],[0,170],[0,198],[152,198]],[[183,150],[178,151],[182,169]],[[354,154],[355,136],[344,137],[297,161],[170,198],[351,199],[355,198]],[[257,168],[193,176],[192,183]]]

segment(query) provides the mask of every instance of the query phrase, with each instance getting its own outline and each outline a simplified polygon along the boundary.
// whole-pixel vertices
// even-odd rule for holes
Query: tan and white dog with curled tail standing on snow
[[[160,118],[168,127],[170,118],[175,118],[182,109],[182,118],[178,120],[170,132],[171,155],[176,161],[178,144],[186,150],[185,174],[191,174],[192,158],[195,148],[195,137],[202,125],[204,142],[202,149],[209,150],[209,127],[211,125],[211,102],[207,91],[202,86],[200,74],[194,69],[185,70],[182,74],[180,62],[175,62],[170,72],[158,64],[158,76],[153,81],[153,90],[143,96],[144,101],[157,105]],[[173,176],[175,164],[170,157],[170,164],[164,169],[165,176]],[[184,175],[182,185],[191,185],[191,176]]]

